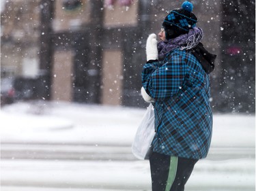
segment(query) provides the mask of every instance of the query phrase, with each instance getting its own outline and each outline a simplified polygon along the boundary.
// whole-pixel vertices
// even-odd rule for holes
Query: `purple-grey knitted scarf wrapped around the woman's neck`
[[[190,29],[188,33],[175,37],[175,39],[158,42],[157,48],[159,60],[164,60],[165,56],[175,48],[181,48],[181,50],[194,48],[199,44],[202,38],[203,30],[194,27],[193,29]]]

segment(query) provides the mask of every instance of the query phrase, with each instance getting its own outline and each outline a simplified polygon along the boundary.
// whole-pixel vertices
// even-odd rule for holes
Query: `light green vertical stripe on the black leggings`
[[[169,166],[169,175],[168,175],[165,191],[171,190],[171,186],[173,185],[173,181],[175,179],[176,173],[177,173],[177,156],[171,156],[170,166]]]

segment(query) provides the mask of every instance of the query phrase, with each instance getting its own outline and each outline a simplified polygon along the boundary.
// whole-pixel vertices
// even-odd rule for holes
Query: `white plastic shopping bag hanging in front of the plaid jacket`
[[[150,103],[150,106],[147,107],[147,111],[143,116],[141,124],[139,124],[139,128],[132,143],[132,154],[134,154],[136,158],[142,160],[145,159],[147,152],[150,150],[151,143],[156,134],[154,121],[154,107],[152,103]]]

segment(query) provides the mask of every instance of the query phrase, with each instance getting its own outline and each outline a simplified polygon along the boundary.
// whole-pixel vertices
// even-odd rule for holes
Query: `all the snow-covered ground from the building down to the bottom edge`
[[[1,190],[150,190],[130,145],[145,109],[29,102],[3,107]],[[255,116],[214,114],[208,158],[188,190],[255,190]]]

